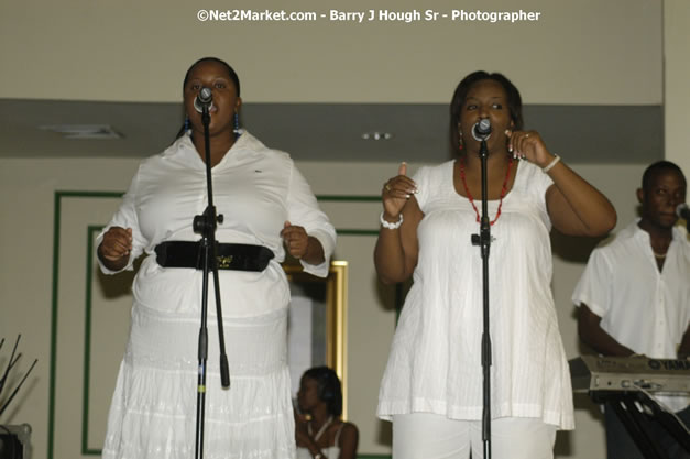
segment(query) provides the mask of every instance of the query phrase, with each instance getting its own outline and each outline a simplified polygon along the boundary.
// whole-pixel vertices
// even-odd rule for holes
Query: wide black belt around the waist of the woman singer
[[[156,262],[163,267],[204,270],[204,250],[199,241],[167,241],[156,245]],[[262,245],[216,243],[219,270],[263,271],[273,252]]]

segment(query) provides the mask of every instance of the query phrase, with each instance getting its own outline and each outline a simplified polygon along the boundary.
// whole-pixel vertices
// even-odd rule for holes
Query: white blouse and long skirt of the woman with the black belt
[[[289,156],[266,149],[249,133],[212,168],[212,176],[215,204],[224,216],[218,241],[264,245],[275,258],[263,272],[219,272],[229,390],[220,385],[211,278],[204,456],[291,459],[295,433],[286,363],[289,288],[278,264],[285,256],[280,231],[289,220],[316,237],[326,262],[304,266],[325,276],[335,230]],[[161,267],[154,248],[168,240],[199,239],[191,221],[206,208],[206,195],[204,162],[185,135],[140,165],[105,229],[132,228],[134,248],[127,269],[142,252],[147,256],[133,284],[130,337],[103,458],[194,457],[201,272]]]

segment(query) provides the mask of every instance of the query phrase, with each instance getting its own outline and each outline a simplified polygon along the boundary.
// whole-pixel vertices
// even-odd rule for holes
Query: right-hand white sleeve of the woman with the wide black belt
[[[287,218],[291,223],[304,227],[307,234],[316,238],[324,248],[324,263],[314,265],[299,260],[305,272],[319,277],[328,275],[330,258],[336,250],[336,229],[321,209],[311,187],[292,163],[289,188],[287,192]]]

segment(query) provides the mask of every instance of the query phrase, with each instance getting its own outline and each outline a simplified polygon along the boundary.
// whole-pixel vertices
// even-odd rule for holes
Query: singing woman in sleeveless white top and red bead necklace
[[[450,105],[457,160],[406,165],[382,190],[375,265],[384,283],[414,285],[383,378],[377,414],[393,420],[395,459],[483,457],[480,142],[491,121],[488,207],[492,448],[495,459],[552,457],[557,428],[572,429],[572,396],[550,292],[551,226],[601,236],[615,226],[609,200],[523,130],[522,101],[501,74],[475,72]]]

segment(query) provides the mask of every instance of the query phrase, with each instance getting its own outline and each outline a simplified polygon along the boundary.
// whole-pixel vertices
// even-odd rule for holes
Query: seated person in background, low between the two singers
[[[355,459],[359,431],[354,424],[340,419],[342,390],[333,370],[307,370],[299,382],[297,404],[297,459]]]

